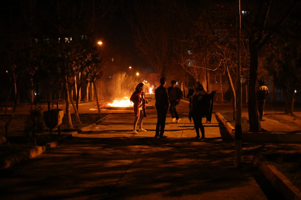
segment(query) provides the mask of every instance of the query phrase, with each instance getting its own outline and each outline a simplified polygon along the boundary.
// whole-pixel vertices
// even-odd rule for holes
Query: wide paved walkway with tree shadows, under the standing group
[[[132,134],[133,113],[113,114],[44,154],[0,172],[0,199],[281,199],[251,162],[257,153],[299,152],[300,145],[243,144],[234,169],[234,143],[216,121],[206,140],[194,139],[187,105],[154,138],[156,111]]]

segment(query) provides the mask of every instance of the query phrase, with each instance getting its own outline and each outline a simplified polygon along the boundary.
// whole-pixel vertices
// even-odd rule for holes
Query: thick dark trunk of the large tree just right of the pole
[[[261,124],[260,124],[259,112],[258,112],[257,102],[256,102],[258,47],[254,44],[252,40],[250,40],[249,46],[250,46],[250,79],[249,79],[248,111],[249,111],[250,132],[260,132]]]

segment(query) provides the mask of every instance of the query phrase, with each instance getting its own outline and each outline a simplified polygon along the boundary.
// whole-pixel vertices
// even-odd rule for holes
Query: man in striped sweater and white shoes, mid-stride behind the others
[[[169,112],[172,116],[172,120],[171,120],[172,123],[175,123],[175,122],[179,123],[179,121],[181,120],[179,118],[179,115],[178,115],[178,112],[177,112],[177,109],[175,108],[175,106],[179,105],[180,99],[182,98],[183,93],[180,88],[176,87],[176,83],[177,82],[175,80],[172,80],[171,87],[169,87],[167,89],[168,96],[169,96],[169,103],[170,103]]]

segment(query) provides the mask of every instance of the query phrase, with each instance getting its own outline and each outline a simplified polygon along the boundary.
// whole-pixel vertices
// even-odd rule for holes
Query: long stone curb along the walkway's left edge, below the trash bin
[[[31,158],[34,158],[34,157],[38,156],[38,155],[41,155],[45,151],[49,150],[50,148],[56,147],[58,144],[61,144],[61,143],[65,142],[66,139],[69,139],[69,138],[75,136],[77,133],[80,133],[83,130],[87,130],[87,129],[93,127],[93,126],[96,126],[96,124],[99,124],[101,121],[103,121],[104,119],[108,118],[111,115],[112,114],[109,114],[109,115],[99,119],[95,123],[93,123],[89,126],[83,127],[81,130],[69,133],[66,136],[63,136],[62,138],[58,139],[57,141],[49,142],[49,143],[47,143],[46,145],[43,145],[43,146],[32,147],[30,149],[21,151],[20,153],[18,153],[16,155],[9,156],[5,160],[0,162],[0,170],[8,169],[11,166],[14,166],[18,163],[21,163],[21,162],[25,161],[25,160],[29,160]]]

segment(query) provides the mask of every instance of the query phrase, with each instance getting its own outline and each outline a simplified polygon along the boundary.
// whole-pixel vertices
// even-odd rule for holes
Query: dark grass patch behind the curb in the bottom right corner
[[[301,191],[301,154],[265,154],[264,157]]]

